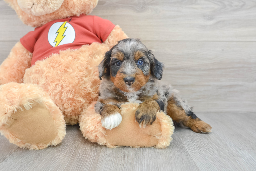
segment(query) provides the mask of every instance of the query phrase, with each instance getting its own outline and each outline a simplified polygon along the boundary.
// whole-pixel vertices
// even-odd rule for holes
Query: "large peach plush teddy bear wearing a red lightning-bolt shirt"
[[[133,120],[138,104],[125,104],[126,117],[110,131],[94,111],[97,66],[105,52],[127,38],[118,25],[88,15],[98,0],[5,1],[24,24],[36,27],[0,66],[0,132],[10,143],[43,149],[61,143],[66,125],[79,124],[85,138],[108,147],[170,145],[173,123],[161,112],[141,129]],[[124,133],[127,127],[133,127],[130,135]]]

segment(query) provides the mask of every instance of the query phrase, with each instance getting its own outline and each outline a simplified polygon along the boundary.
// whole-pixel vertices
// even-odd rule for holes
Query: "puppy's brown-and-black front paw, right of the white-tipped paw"
[[[159,110],[158,103],[153,99],[148,99],[141,103],[135,113],[135,119],[139,123],[139,127],[146,128],[148,125],[152,125]]]

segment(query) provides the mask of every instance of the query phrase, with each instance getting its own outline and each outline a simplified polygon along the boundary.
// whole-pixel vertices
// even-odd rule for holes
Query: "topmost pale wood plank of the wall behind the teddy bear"
[[[120,25],[129,37],[148,41],[256,41],[255,4],[253,0],[112,0],[99,1],[91,15]],[[0,41],[18,41],[33,30],[3,0],[0,9]]]

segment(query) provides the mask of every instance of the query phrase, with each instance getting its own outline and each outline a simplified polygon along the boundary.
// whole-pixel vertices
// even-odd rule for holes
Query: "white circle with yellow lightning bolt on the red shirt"
[[[74,40],[75,30],[67,21],[55,22],[49,29],[48,42],[53,47],[73,43]]]

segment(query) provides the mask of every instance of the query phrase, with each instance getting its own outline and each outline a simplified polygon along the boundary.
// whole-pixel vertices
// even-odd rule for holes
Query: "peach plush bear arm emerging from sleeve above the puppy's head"
[[[109,47],[109,49],[111,49],[114,45],[117,44],[119,40],[126,38],[128,38],[128,36],[119,27],[119,25],[116,25],[109,34],[108,38],[105,40],[104,44],[106,44]]]

